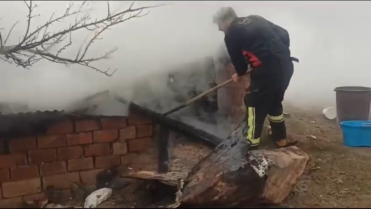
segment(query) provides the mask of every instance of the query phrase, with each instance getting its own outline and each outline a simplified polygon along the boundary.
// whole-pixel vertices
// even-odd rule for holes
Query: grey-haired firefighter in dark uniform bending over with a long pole
[[[213,17],[223,31],[224,42],[236,73],[234,82],[242,79],[250,66],[250,93],[244,97],[249,126],[246,139],[252,148],[260,144],[264,120],[268,116],[271,138],[276,145],[296,144],[286,141],[282,101],[293,74],[288,32],[257,15],[237,17],[232,7],[221,8]]]

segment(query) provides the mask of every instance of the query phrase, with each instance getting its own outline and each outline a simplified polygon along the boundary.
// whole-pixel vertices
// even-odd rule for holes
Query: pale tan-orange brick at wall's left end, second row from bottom
[[[4,197],[17,197],[41,192],[40,178],[3,183]]]

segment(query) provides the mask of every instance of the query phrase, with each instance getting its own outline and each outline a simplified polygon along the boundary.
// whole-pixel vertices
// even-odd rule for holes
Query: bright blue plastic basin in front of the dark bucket
[[[349,120],[340,123],[344,145],[371,147],[371,120]]]

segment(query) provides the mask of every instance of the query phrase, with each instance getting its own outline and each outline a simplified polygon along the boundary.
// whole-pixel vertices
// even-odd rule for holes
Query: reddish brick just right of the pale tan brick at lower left
[[[78,172],[73,173],[61,173],[55,174],[53,176],[45,176],[43,177],[43,187],[44,190],[48,186],[54,186],[55,189],[70,189],[72,187],[72,183],[80,182],[80,177]]]

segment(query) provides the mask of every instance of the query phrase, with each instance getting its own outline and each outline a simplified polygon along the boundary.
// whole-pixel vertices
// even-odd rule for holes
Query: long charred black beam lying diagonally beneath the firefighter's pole
[[[119,102],[129,105],[130,110],[133,110],[134,112],[137,112],[138,114],[151,118],[154,120],[154,122],[167,126],[167,128],[170,130],[179,132],[181,134],[184,134],[185,136],[189,136],[190,139],[195,139],[200,142],[205,142],[211,147],[216,147],[218,144],[224,141],[224,139],[219,138],[218,136],[210,134],[206,131],[203,131],[194,126],[188,125],[186,123],[183,123],[179,120],[165,117],[161,113],[157,113],[146,107],[141,107],[133,102],[128,102],[127,100],[121,97],[116,96],[115,99],[118,100]]]

